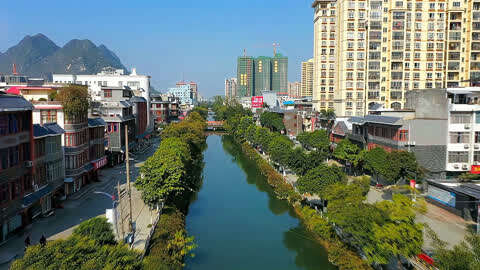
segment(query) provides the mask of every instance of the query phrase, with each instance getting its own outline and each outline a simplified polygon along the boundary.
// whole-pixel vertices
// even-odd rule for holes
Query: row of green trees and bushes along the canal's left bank
[[[185,215],[192,195],[201,186],[205,128],[205,118],[196,111],[185,120],[168,125],[157,151],[140,169],[135,186],[142,192],[144,202],[150,207],[165,205],[144,259],[144,269],[182,269],[185,256],[194,256],[196,244],[185,230]]]

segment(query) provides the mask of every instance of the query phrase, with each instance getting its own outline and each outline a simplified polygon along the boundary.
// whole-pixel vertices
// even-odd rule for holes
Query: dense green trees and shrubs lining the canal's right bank
[[[395,182],[418,171],[413,155],[386,153],[380,148],[360,151],[348,141],[332,153],[326,131],[302,134],[299,141],[303,147],[294,147],[293,142],[279,133],[282,127],[271,113],[260,116],[264,126],[257,126],[251,112],[234,101],[218,98],[212,107],[217,120],[226,121],[225,128],[242,145],[243,152],[256,161],[278,198],[293,205],[306,227],[327,247],[329,260],[340,269],[369,269],[370,265],[387,264],[392,259],[409,258],[421,252],[423,226],[415,223],[415,212],[421,210],[422,203],[394,194],[392,201],[368,204],[365,202],[368,177],[347,181],[343,170],[325,164],[328,157],[343,157],[343,161],[348,158],[355,161],[359,171]],[[298,191],[328,201],[328,213],[322,216],[302,206],[300,193],[254,148],[268,153],[273,166],[298,174]],[[392,164],[389,162],[392,157],[408,162]]]

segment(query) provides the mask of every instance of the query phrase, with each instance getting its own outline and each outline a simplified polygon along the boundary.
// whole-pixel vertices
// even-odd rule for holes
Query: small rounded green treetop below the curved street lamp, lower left
[[[73,235],[88,237],[97,241],[100,245],[116,244],[112,224],[110,224],[105,217],[95,217],[80,223],[80,225],[73,230]]]

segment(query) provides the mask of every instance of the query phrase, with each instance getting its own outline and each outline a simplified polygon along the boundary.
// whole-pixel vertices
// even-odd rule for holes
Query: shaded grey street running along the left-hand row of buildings
[[[158,139],[153,141],[150,148],[143,153],[132,154],[133,164],[130,163],[131,179],[134,181],[139,172],[139,163],[145,161],[151,156],[157,146]],[[135,166],[134,166],[135,165]],[[0,246],[0,263],[13,256],[23,256],[24,239],[30,235],[32,244],[37,244],[41,235],[44,234],[48,240],[65,238],[71,234],[73,228],[92,217],[105,215],[105,209],[112,208],[112,200],[107,196],[94,194],[94,191],[102,191],[109,194],[117,194],[117,181],[120,184],[126,182],[125,164],[119,164],[113,168],[102,169],[99,172],[100,182],[92,183],[80,190],[80,196],[75,195],[76,199],[69,199],[64,202],[63,209],[56,209],[55,214],[39,218],[25,228],[22,235],[15,236]],[[0,264],[0,270],[7,270],[8,264]]]

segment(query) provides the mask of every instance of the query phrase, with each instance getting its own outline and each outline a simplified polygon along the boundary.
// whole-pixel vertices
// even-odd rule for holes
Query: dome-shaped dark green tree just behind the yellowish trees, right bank
[[[297,188],[300,193],[318,194],[324,197],[328,186],[346,183],[346,181],[347,177],[340,167],[321,164],[301,176],[297,181]]]

